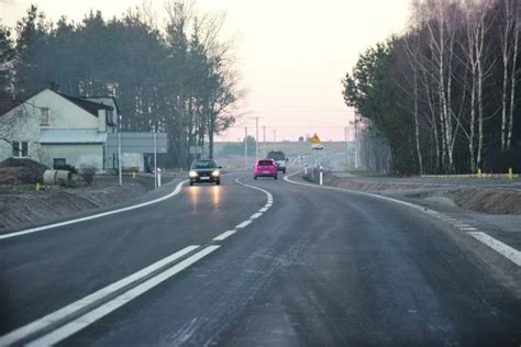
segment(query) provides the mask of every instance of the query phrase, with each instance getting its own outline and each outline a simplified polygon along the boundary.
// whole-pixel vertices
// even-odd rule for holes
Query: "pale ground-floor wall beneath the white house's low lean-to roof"
[[[101,144],[43,144],[43,164],[52,167],[54,158],[65,158],[68,165],[76,168],[81,165],[96,166],[98,169],[103,168],[103,145]]]

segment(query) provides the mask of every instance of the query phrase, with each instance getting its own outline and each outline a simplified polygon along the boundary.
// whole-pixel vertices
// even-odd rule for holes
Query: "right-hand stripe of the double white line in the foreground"
[[[123,306],[128,302],[134,300],[135,298],[142,295],[143,293],[147,292],[148,290],[153,289],[154,287],[160,284],[162,282],[166,281],[170,277],[179,273],[184,269],[188,268],[196,261],[202,259],[203,257],[208,256],[215,249],[221,246],[212,245],[208,246],[207,248],[196,253],[191,257],[174,265],[171,268],[160,272],[159,275],[146,280],[145,282],[132,288],[131,290],[124,292],[123,294],[119,295],[118,298],[112,299],[111,301],[102,304],[101,306],[90,311],[89,313],[74,320],[73,322],[67,323],[66,325],[31,342],[26,346],[51,346],[55,345],[65,338],[69,337],[73,334],[84,329],[85,327],[89,326],[90,324],[99,321],[100,318],[104,317],[109,313],[118,310],[119,307]]]

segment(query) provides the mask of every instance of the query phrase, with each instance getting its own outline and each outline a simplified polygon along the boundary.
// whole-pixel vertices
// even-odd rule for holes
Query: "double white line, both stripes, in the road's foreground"
[[[219,247],[221,246],[210,245],[182,259],[200,248],[200,246],[188,246],[122,280],[0,337],[0,346],[26,342],[30,342],[27,346],[57,344],[174,277]]]

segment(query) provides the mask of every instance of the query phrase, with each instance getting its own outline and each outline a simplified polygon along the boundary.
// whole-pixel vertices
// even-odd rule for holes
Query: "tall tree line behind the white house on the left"
[[[54,23],[31,5],[14,29],[0,26],[0,111],[49,83],[70,96],[110,94],[121,131],[168,134],[171,165],[188,165],[190,146],[208,146],[212,157],[242,96],[234,45],[221,38],[223,15],[184,0],[165,11],[159,27],[144,7]]]

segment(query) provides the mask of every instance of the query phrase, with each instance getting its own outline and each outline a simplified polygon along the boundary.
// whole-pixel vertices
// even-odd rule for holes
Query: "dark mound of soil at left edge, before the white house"
[[[34,184],[43,180],[48,168],[26,158],[8,158],[0,163],[0,184]]]

